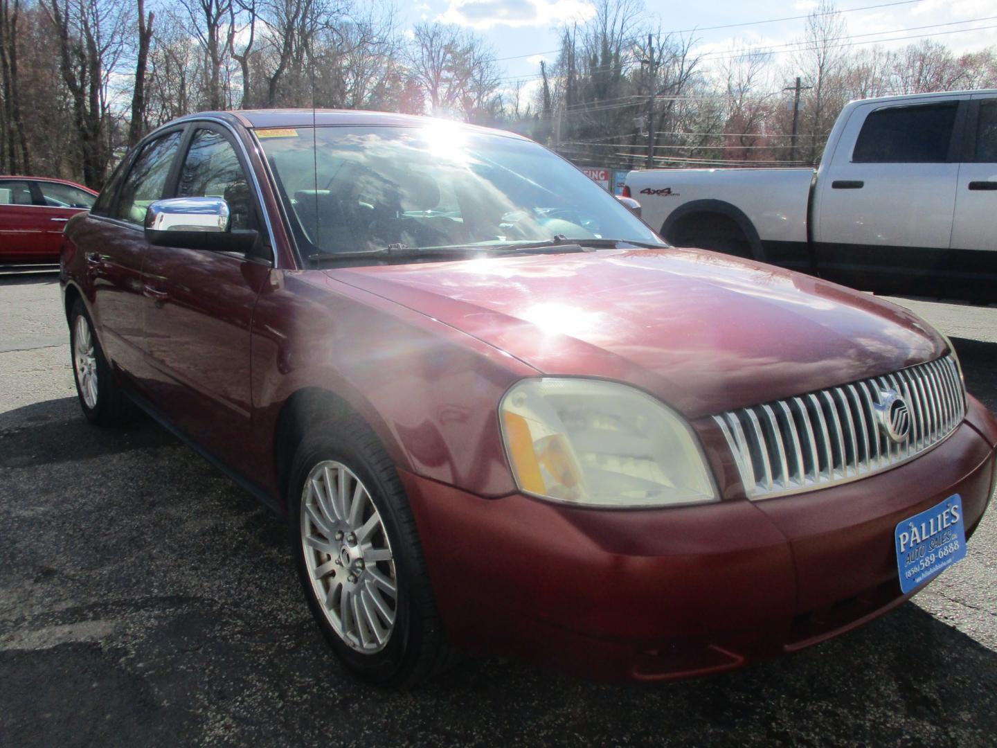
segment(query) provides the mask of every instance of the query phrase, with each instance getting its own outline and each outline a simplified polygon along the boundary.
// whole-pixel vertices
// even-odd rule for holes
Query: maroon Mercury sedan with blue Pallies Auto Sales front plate
[[[951,344],[665,244],[523,138],[191,116],[73,218],[84,414],[152,414],[287,518],[332,647],[657,680],[805,647],[966,554],[997,422]]]

